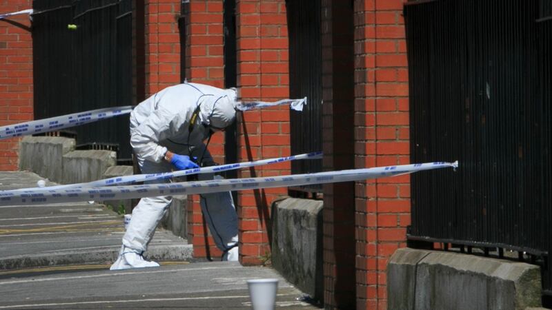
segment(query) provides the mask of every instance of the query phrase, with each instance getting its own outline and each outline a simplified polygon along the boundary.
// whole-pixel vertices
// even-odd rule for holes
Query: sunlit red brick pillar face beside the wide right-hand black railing
[[[408,75],[402,0],[355,0],[356,167],[404,165]],[[410,178],[357,183],[357,309],[386,309],[386,265],[406,246]]]

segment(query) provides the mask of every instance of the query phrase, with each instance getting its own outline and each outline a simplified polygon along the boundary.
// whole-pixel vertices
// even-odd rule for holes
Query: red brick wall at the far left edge
[[[0,1],[0,14],[32,8],[30,0]],[[0,19],[0,126],[33,119],[32,38],[28,14]],[[17,170],[20,138],[0,140],[0,170]]]

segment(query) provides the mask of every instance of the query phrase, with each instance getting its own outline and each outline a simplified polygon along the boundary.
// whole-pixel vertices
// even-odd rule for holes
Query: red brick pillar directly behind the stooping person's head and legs
[[[190,1],[186,14],[186,78],[188,82],[224,87],[224,33],[222,1]],[[224,132],[213,135],[208,146],[217,163],[224,163]],[[188,196],[188,242],[195,258],[219,260],[217,249],[201,214],[199,195]]]

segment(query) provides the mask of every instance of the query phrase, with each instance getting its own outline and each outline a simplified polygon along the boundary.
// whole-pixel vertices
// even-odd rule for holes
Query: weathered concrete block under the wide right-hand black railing
[[[444,251],[398,249],[387,267],[388,309],[541,306],[540,267]]]

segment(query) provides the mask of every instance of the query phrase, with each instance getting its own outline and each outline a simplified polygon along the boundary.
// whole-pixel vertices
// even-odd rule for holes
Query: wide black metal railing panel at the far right
[[[460,161],[457,172],[411,177],[408,238],[526,251],[551,293],[552,21],[543,3],[405,6],[411,161]]]

